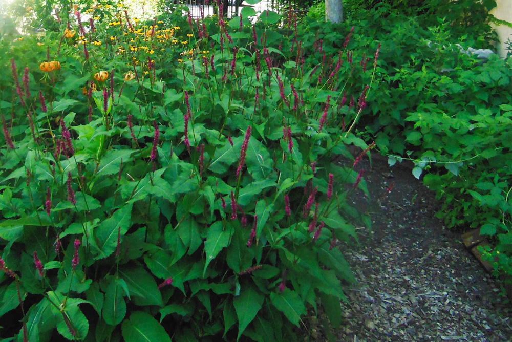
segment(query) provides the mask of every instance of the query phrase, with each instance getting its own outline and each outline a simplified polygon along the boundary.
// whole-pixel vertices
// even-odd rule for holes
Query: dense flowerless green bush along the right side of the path
[[[349,47],[361,53],[376,43],[370,39],[382,45],[378,88],[368,97],[358,134],[374,138],[391,165],[408,159],[416,177],[426,172],[425,184],[442,201],[438,217],[448,227],[481,228],[489,235],[495,274],[511,282],[512,59],[492,55],[483,61],[461,51],[488,45],[484,26],[457,32],[452,18],[425,27],[425,18],[399,14],[389,4],[355,22],[361,13],[346,8],[349,19],[338,27],[354,25]],[[328,47],[343,41],[336,26],[313,23],[306,30]]]

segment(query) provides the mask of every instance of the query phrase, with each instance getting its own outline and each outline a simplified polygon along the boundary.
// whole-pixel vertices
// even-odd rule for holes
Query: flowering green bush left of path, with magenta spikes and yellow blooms
[[[369,148],[362,66],[303,61],[273,12],[79,10],[0,46],[2,336],[296,340],[319,302],[339,325],[353,276],[333,247],[366,186],[358,159],[331,161]]]

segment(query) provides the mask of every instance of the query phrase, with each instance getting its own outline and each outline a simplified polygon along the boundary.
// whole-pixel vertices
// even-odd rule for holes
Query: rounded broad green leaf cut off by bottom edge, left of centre
[[[121,327],[125,341],[130,342],[170,342],[165,329],[150,314],[135,311]]]

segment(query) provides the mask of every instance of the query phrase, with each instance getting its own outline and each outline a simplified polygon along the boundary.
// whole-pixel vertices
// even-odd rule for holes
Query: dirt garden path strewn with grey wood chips
[[[360,168],[371,197],[359,190],[351,198],[371,213],[372,229],[358,227],[359,245],[339,245],[357,284],[346,290],[349,303],[342,302],[344,319],[331,331],[334,339],[512,341],[512,305],[465,249],[461,231],[444,228],[435,217],[434,193],[408,165],[389,167],[374,156]],[[322,313],[318,317],[312,339],[327,340]]]

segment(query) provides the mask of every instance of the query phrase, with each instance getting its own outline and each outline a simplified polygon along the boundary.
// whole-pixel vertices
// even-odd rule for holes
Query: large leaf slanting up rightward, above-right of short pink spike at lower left
[[[95,259],[103,259],[114,252],[117,246],[118,228],[121,227],[120,234],[124,236],[130,228],[130,218],[132,216],[132,204],[128,204],[114,212],[110,218],[101,222],[96,228],[96,239],[100,254]]]

